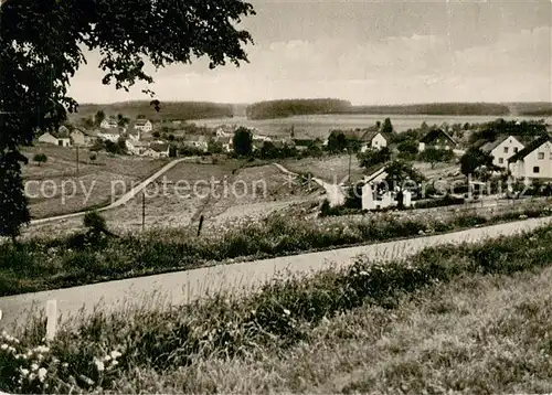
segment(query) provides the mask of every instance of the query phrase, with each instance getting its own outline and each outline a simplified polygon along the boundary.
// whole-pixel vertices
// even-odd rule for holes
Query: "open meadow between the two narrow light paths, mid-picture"
[[[289,204],[320,198],[317,185],[308,191],[307,185],[298,184],[273,166],[243,164],[237,160],[177,164],[145,190],[147,228],[192,226],[200,215],[204,215],[205,226],[232,218],[263,218]],[[103,213],[109,228],[118,233],[141,231],[141,193],[124,206]],[[82,228],[82,218],[67,218],[34,225],[25,234],[63,235]]]

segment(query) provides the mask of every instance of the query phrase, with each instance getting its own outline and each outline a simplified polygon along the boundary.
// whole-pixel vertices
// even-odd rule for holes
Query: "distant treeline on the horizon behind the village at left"
[[[73,114],[72,117],[91,117],[98,110],[103,110],[107,116],[124,114],[130,119],[135,119],[138,115],[144,115],[149,119],[156,117],[181,120],[222,118],[232,117],[236,111],[236,107],[240,106],[208,102],[161,102],[160,107],[160,111],[157,113],[153,106],[150,106],[150,102],[124,102],[105,105],[83,104],[78,106],[78,113]]]

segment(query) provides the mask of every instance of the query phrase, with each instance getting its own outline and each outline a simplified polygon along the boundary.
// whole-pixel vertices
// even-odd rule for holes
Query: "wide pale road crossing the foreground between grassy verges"
[[[471,228],[445,235],[417,237],[412,239],[373,244],[368,246],[333,249],[273,259],[241,263],[234,265],[219,265],[188,271],[131,278],[126,280],[102,282],[82,287],[25,293],[0,298],[0,310],[3,319],[0,327],[13,323],[15,319],[25,318],[28,309],[33,303],[44,307],[49,299],[56,299],[57,307],[66,319],[67,314],[76,313],[81,308],[91,311],[97,303],[104,309],[120,309],[124,305],[144,305],[151,295],[161,292],[174,305],[187,303],[205,297],[213,291],[252,291],[276,273],[289,270],[293,274],[308,274],[320,270],[331,263],[343,267],[350,265],[359,255],[365,255],[379,260],[407,257],[428,246],[447,243],[473,243],[500,235],[512,235],[522,231],[530,231],[543,225],[552,225],[552,217],[532,218],[505,223],[487,227]]]

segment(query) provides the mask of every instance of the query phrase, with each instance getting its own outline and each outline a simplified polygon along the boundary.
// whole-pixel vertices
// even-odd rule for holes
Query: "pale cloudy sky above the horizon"
[[[552,1],[250,0],[250,64],[206,60],[153,73],[161,100],[253,103],[332,97],[354,105],[551,102]],[[79,103],[148,99],[102,85],[85,53]]]

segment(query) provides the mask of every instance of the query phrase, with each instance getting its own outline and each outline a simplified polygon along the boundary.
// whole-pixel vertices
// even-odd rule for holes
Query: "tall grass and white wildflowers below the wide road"
[[[552,383],[551,264],[549,226],[429,248],[407,261],[359,258],[344,269],[275,280],[245,299],[97,311],[63,328],[47,350],[35,349],[44,335],[36,320],[20,329],[19,342],[4,337],[0,388],[543,391]],[[40,369],[42,381],[31,373]]]

